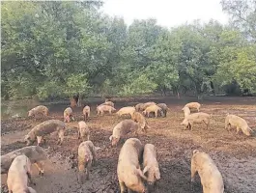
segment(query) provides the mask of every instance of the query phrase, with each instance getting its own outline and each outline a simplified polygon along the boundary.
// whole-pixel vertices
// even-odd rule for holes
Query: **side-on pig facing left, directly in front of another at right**
[[[207,125],[207,129],[209,128],[210,124],[210,118],[211,116],[207,113],[193,113],[190,115],[187,115],[182,123],[182,125],[185,125],[185,127],[190,128],[192,130],[193,124],[200,124],[204,123]]]

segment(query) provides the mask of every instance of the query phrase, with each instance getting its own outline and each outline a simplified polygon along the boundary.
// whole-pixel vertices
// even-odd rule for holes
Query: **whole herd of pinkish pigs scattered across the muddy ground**
[[[201,105],[198,102],[185,104],[182,109],[185,119],[182,125],[192,130],[194,124],[206,124],[209,129],[212,115],[199,112]],[[191,113],[196,109],[196,113]],[[90,128],[86,121],[90,117],[90,106],[83,108],[82,114],[84,121],[77,124],[77,136],[82,140],[78,147],[78,182],[83,183],[89,179],[90,168],[96,163],[96,152],[100,147],[95,147],[90,141]],[[112,101],[105,101],[97,106],[97,114],[112,114],[116,109]],[[154,113],[155,117],[166,117],[170,111],[165,103],[146,102],[138,103],[135,106],[127,106],[116,112],[118,116],[128,115],[131,119],[126,119],[113,128],[112,135],[109,137],[112,146],[117,146],[120,141],[125,141],[126,135],[133,132],[138,136],[138,132],[147,133],[151,126],[145,117],[150,117]],[[43,115],[48,116],[48,108],[40,105],[28,112],[28,116]],[[66,123],[74,121],[72,109],[68,107],[64,111],[64,122],[59,120],[48,120],[42,124],[34,126],[24,137],[27,147],[9,152],[1,156],[1,174],[7,174],[7,185],[9,192],[30,192],[34,193],[29,184],[33,184],[31,178],[31,164],[35,164],[39,174],[43,175],[43,161],[47,158],[47,153],[40,146],[45,143],[44,136],[52,132],[58,133],[57,144],[62,145]],[[245,120],[236,115],[227,115],[225,128],[236,127],[237,133],[240,130],[250,136],[252,129]],[[37,141],[37,146],[32,146]],[[123,142],[124,143],[124,142]],[[194,181],[195,174],[198,173],[201,179],[204,193],[223,193],[224,184],[220,172],[218,171],[213,159],[206,153],[198,150],[192,152],[191,157],[191,181]],[[156,181],[160,179],[160,170],[156,157],[156,147],[153,144],[143,145],[137,138],[128,138],[119,153],[117,164],[117,175],[121,192],[151,192],[154,190]],[[145,185],[146,184],[146,185]]]

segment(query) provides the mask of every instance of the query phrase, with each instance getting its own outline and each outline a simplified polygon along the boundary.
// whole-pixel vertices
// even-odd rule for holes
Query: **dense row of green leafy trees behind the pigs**
[[[100,2],[2,2],[2,96],[256,91],[256,1],[222,2],[229,25],[166,29]]]

